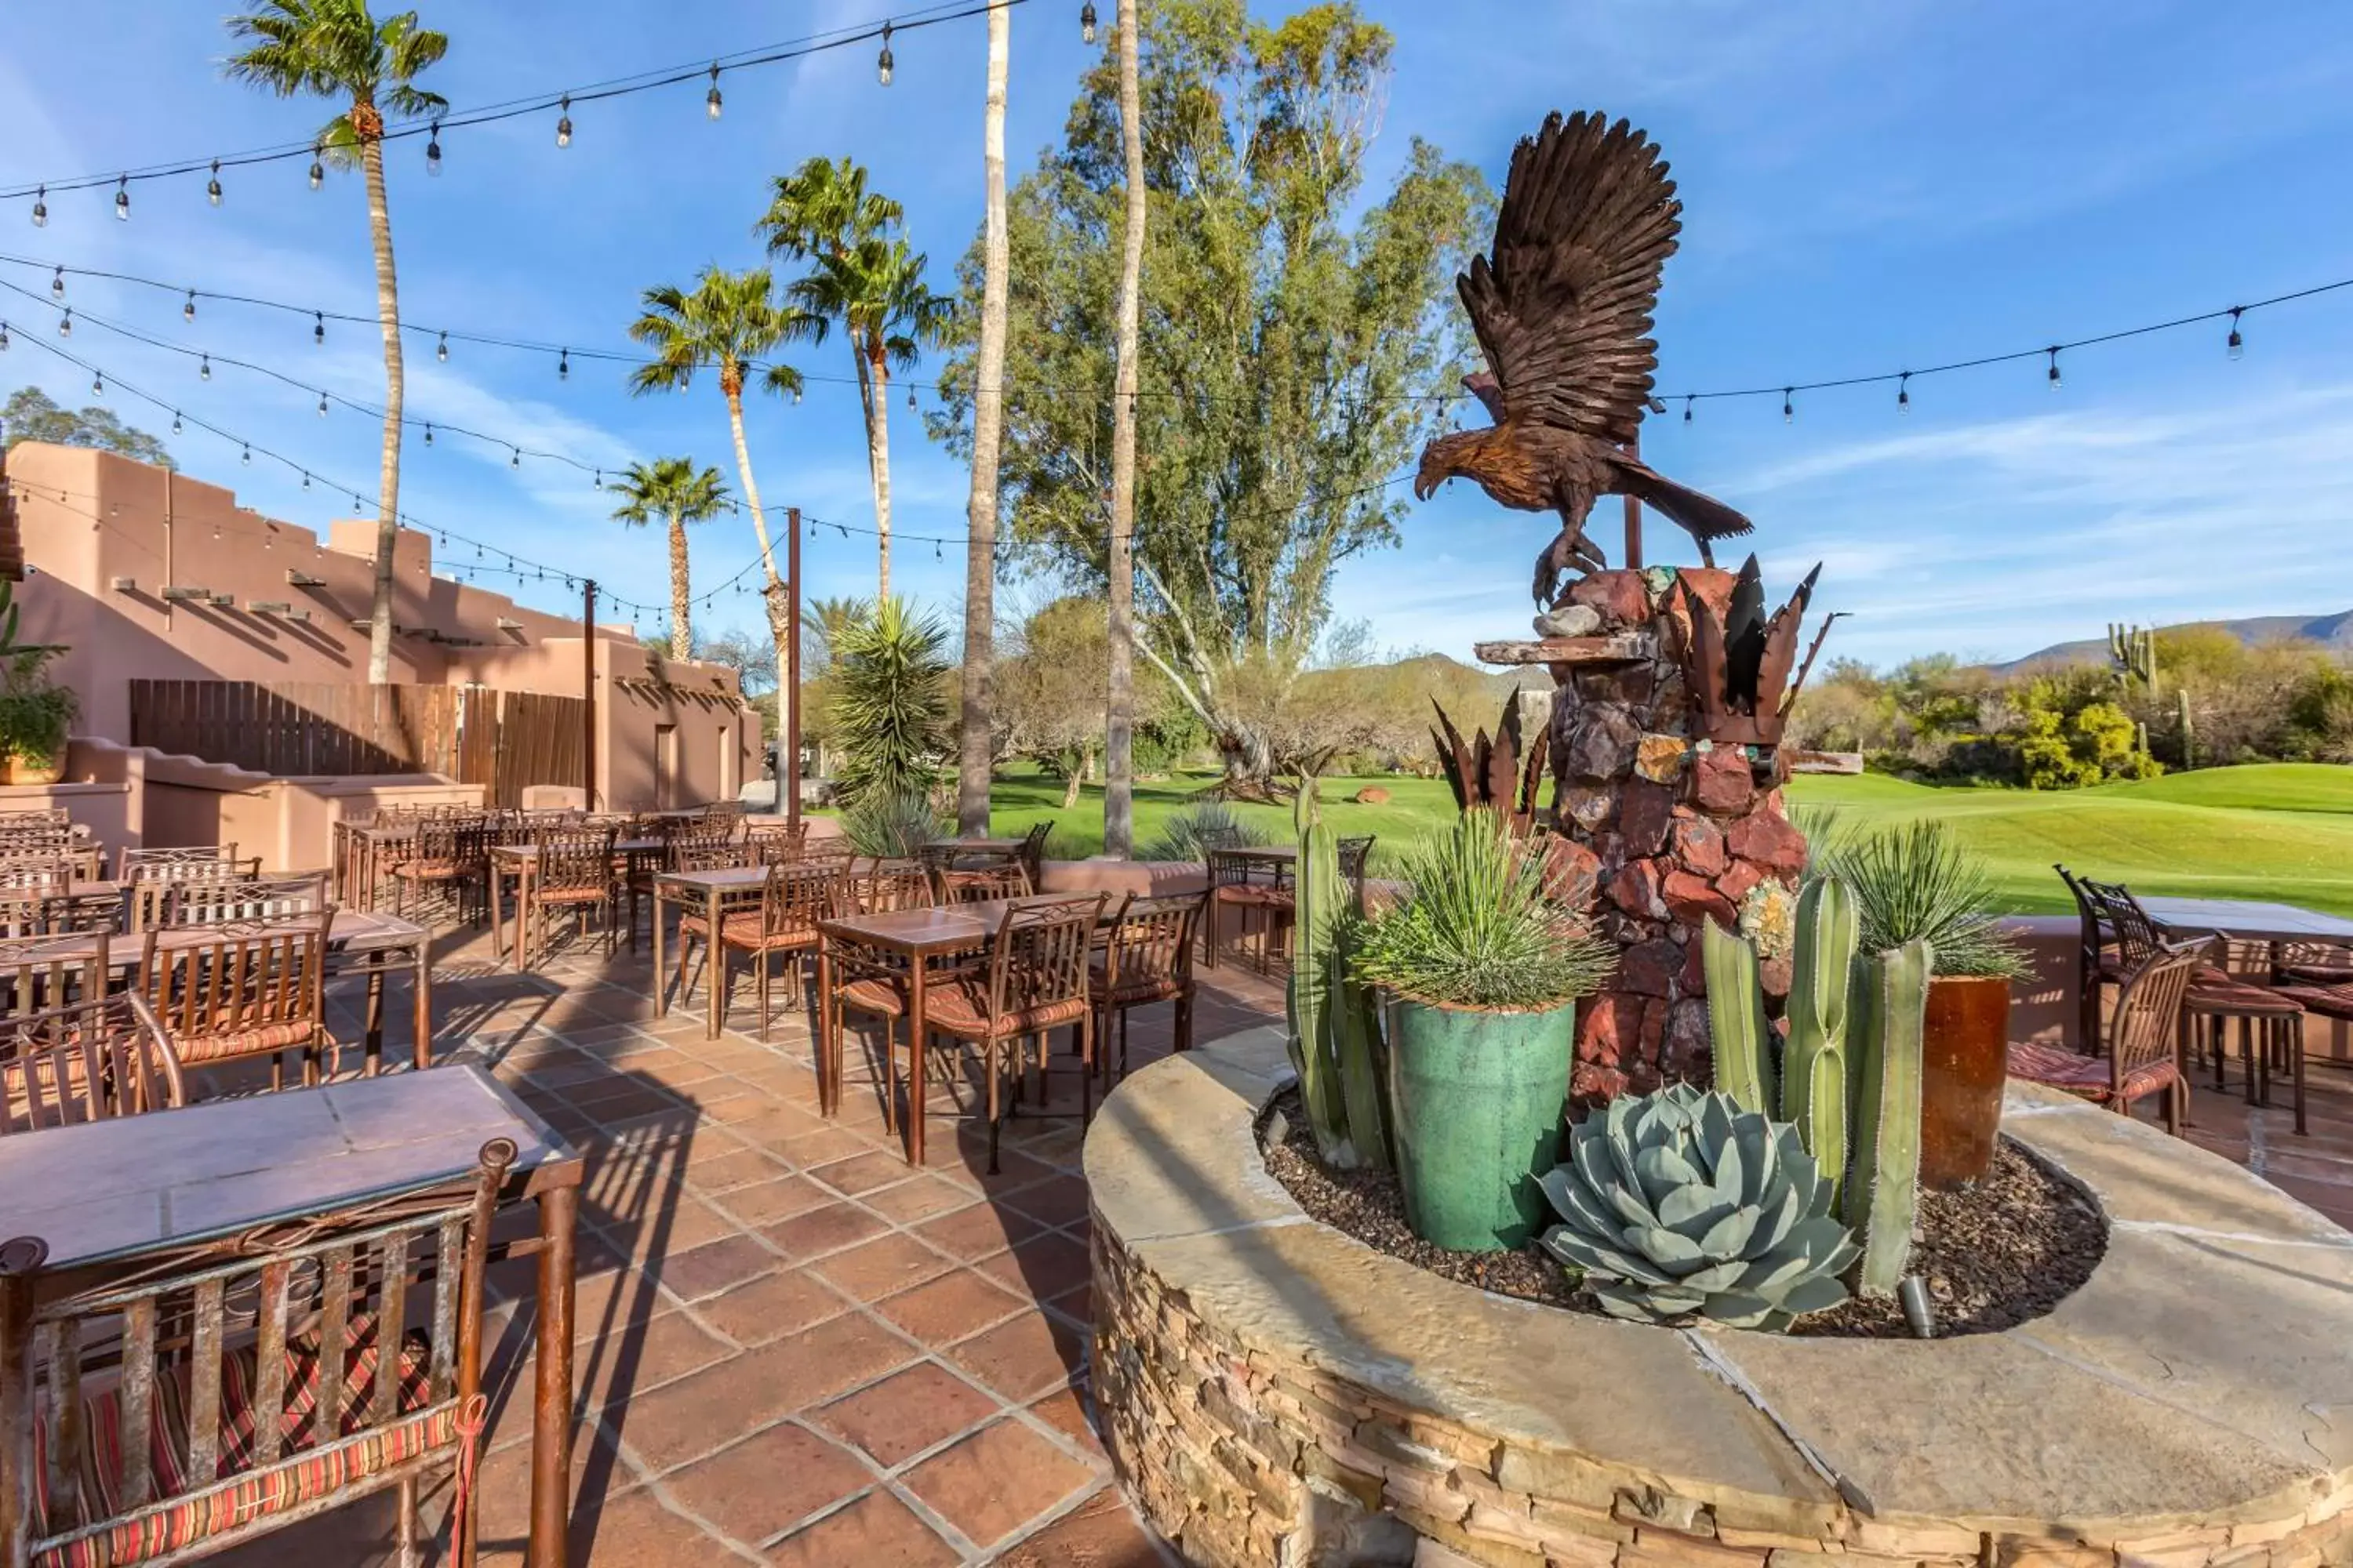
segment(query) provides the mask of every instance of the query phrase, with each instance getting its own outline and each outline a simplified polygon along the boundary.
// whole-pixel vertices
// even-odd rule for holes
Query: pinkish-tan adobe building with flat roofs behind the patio
[[[388,799],[576,799],[588,693],[600,809],[734,799],[758,773],[760,719],[734,670],[661,658],[626,625],[598,625],[584,646],[579,618],[435,576],[428,534],[402,529],[393,552],[393,686],[440,691],[388,705],[367,686],[374,522],[320,538],[216,484],[78,447],[26,442],[0,473],[24,557],[16,635],[64,644],[49,675],[80,696],[66,773],[47,785],[56,799],[0,809],[68,804],[108,844],[242,825],[261,835],[240,839],[247,853],[322,865],[325,820]],[[0,541],[0,567],[5,555]],[[435,726],[447,733],[419,733]],[[78,799],[89,790],[108,799]]]

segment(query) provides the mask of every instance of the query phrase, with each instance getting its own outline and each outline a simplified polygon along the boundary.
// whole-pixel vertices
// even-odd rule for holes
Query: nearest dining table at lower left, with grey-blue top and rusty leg
[[[562,1568],[572,1479],[572,1269],[581,1157],[473,1065],[212,1100],[0,1138],[0,1239],[38,1237],[45,1274],[134,1279],[191,1241],[325,1215],[475,1171],[515,1140],[499,1204],[539,1208],[529,1568]]]

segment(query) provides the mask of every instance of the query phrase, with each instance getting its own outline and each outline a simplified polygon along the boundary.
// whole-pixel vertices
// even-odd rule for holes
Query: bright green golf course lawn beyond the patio
[[[1136,788],[1136,842],[1160,832],[1169,811],[1207,785],[1179,776]],[[1384,806],[1358,806],[1358,788],[1391,792]],[[1395,846],[1447,820],[1454,802],[1435,778],[1327,778],[1337,832],[1372,832]],[[2026,790],[1939,790],[1878,773],[1864,778],[1807,776],[1791,783],[1798,806],[1835,809],[1854,825],[1937,818],[1953,825],[1993,870],[2009,910],[2068,910],[2052,863],[2125,882],[2144,893],[2202,898],[2278,898],[2313,910],[2353,914],[2353,769],[2325,764],[2257,764],[2207,769],[2146,783],[2033,795]],[[1273,832],[1289,832],[1287,806],[1240,806]],[[1052,820],[1056,858],[1092,856],[1104,846],[1104,792],[1087,788],[1061,811],[1061,785],[1035,773],[1009,773],[995,790],[995,830],[1021,832]],[[1377,851],[1379,853],[1379,851]]]

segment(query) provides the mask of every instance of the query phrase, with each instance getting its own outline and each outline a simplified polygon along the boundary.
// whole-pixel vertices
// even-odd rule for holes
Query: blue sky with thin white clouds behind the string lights
[[[219,78],[226,5],[80,0],[12,7],[0,47],[0,188],[172,158],[292,141],[325,113]],[[1108,0],[1101,0],[1108,14]],[[1259,7],[1273,14],[1275,7]],[[2353,275],[2353,12],[2132,5],[1969,7],[1887,0],[1788,5],[1612,0],[1579,5],[1367,2],[1398,33],[1398,73],[1377,179],[1409,134],[1475,158],[1497,179],[1511,141],[1548,108],[1631,115],[1666,146],[1685,197],[1682,252],[1659,313],[1661,393],[1781,386],[1962,360],[2214,310]],[[431,82],[456,106],[558,92],[659,63],[878,21],[885,0],[816,5],[426,2],[452,52]],[[1087,59],[1075,0],[1014,12],[1007,150],[1014,179],[1054,141]],[[391,167],[402,310],[414,322],[624,348],[649,282],[708,261],[758,261],[751,223],[769,174],[812,153],[852,153],[908,207],[941,287],[979,223],[984,24],[896,40],[896,85],[873,49],[840,49],[729,75],[727,113],[704,118],[701,82],[581,106],[569,148],[553,115],[442,136],[447,172],[424,176],[421,143]],[[0,212],[0,254],[99,266],[205,289],[372,310],[367,221],[355,176],[311,193],[301,162],[134,186],[115,223],[111,190],[52,195],[35,230]],[[45,294],[45,275],[0,266]],[[365,327],[325,348],[296,317],[207,306],[184,324],[172,299],[75,282],[80,313],[278,367],[362,402],[381,397]],[[0,292],[0,317],[54,341],[54,310]],[[2049,393],[2040,360],[1889,388],[1678,402],[1645,456],[1758,522],[1772,581],[1824,562],[1821,602],[1854,614],[1835,646],[1873,661],[1948,649],[2017,656],[2106,621],[2320,614],[2353,604],[2344,536],[2353,520],[2353,289],[2245,320],[2247,355],[2224,327],[2193,327],[2064,357]],[[374,496],[374,421],[318,418],[315,393],[186,360],[82,327],[73,348],[113,376],[306,468]],[[816,376],[847,376],[840,341],[800,350]],[[0,388],[35,381],[71,404],[89,378],[21,343]],[[108,400],[134,423],[160,414]],[[619,369],[456,348],[409,355],[409,411],[492,430],[586,463],[692,451],[732,480],[718,390],[633,400]],[[894,409],[896,527],[962,534],[965,470]],[[800,407],[751,407],[769,503],[871,522],[856,397],[814,383]],[[181,463],[238,487],[264,512],[322,527],[334,491],[292,473],[240,468],[235,449],[188,433]],[[508,465],[504,449],[412,440],[402,508],[428,524],[501,541],[659,602],[659,541],[607,520],[586,475]],[[1652,527],[1661,538],[1666,524]],[[1504,512],[1466,484],[1405,520],[1398,550],[1351,562],[1334,590],[1374,642],[1464,656],[1518,635],[1541,517]],[[1600,536],[1612,543],[1614,529]],[[699,588],[753,555],[741,520],[696,538]],[[873,541],[821,534],[812,595],[871,590]],[[955,609],[962,562],[901,543],[894,581]],[[1040,588],[1014,588],[1040,597]],[[548,609],[560,592],[527,599]],[[751,597],[711,611],[713,630],[753,628]],[[652,623],[647,623],[652,630]]]

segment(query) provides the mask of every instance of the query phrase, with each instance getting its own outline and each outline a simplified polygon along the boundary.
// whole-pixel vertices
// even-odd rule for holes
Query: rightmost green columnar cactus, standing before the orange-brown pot
[[[1854,969],[1861,1093],[1854,1180],[1840,1218],[1864,1239],[1857,1295],[1892,1295],[1911,1258],[1920,1208],[1920,1074],[1927,1032],[1929,950],[1911,940]]]

